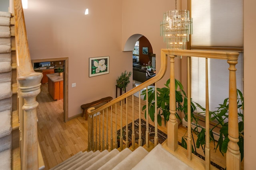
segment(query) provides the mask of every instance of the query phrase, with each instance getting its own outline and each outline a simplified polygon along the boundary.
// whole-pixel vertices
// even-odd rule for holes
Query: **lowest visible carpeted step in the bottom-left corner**
[[[0,152],[0,169],[11,170],[11,149]]]

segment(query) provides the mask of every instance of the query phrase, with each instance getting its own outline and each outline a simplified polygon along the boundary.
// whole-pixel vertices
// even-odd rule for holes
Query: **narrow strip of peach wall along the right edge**
[[[255,170],[255,6],[256,1],[244,0],[244,169]]]

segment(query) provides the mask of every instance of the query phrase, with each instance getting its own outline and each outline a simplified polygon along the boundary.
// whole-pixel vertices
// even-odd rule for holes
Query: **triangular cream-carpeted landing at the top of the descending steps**
[[[165,150],[161,144],[156,145],[132,170],[192,170],[187,164]]]

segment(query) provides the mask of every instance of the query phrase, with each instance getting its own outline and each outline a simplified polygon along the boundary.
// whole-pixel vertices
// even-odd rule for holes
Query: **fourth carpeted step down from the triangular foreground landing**
[[[100,152],[100,154],[94,156],[93,158],[91,158],[90,160],[86,161],[86,162],[80,162],[80,164],[76,164],[75,166],[72,166],[71,168],[69,168],[68,170],[85,170],[86,168],[88,168],[89,166],[91,166],[92,164],[94,164],[94,162],[96,162],[97,160],[99,160],[100,158],[104,157],[105,155],[107,155],[109,152],[108,150],[103,150],[102,152]]]

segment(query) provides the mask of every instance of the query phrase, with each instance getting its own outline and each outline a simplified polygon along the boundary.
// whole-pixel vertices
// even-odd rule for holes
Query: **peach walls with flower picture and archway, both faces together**
[[[166,47],[160,37],[160,21],[165,11],[175,8],[168,0],[28,0],[28,4],[24,15],[31,59],[69,58],[68,117],[81,113],[82,104],[115,97],[116,78],[122,71],[132,70],[132,51],[123,51],[130,36],[141,34],[150,41],[156,69],[160,68],[160,49]],[[86,8],[88,16],[84,15]],[[89,78],[89,58],[100,56],[110,56],[109,74]],[[176,75],[180,77],[180,72]],[[167,79],[168,75],[162,83]],[[131,88],[132,83],[127,90]]]

